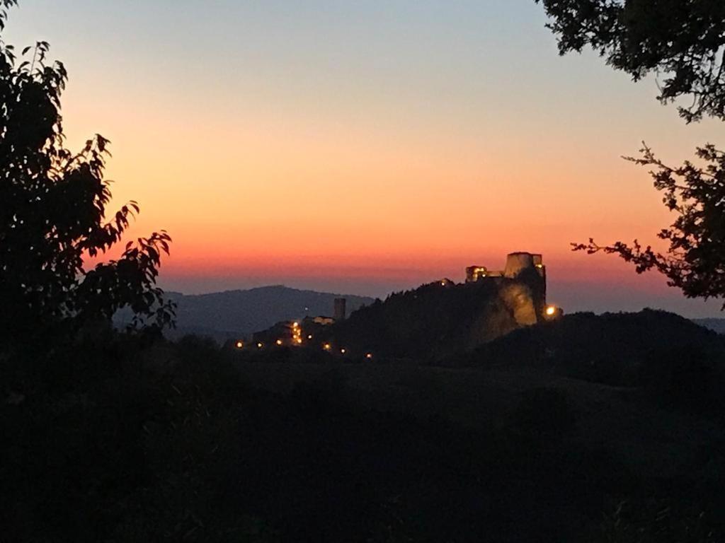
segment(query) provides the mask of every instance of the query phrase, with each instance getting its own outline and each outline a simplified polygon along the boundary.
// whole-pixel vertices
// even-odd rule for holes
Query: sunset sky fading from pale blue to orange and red
[[[676,163],[724,125],[558,56],[533,0],[20,4],[6,41],[65,62],[70,146],[112,140],[133,233],[173,236],[163,287],[382,296],[532,251],[567,311],[720,314],[568,244],[654,241],[672,218],[620,157],[645,140]]]

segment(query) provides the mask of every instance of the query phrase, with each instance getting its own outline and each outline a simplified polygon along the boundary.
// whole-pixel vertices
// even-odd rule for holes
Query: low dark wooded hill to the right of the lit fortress
[[[520,364],[577,379],[616,385],[643,384],[664,366],[718,363],[725,340],[674,313],[574,313],[517,330],[471,353],[447,359],[450,366]]]

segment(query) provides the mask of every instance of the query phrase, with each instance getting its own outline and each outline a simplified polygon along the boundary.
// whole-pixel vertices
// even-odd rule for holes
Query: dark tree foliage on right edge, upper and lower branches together
[[[566,54],[591,46],[611,66],[639,80],[649,72],[663,76],[659,100],[683,96],[687,122],[708,115],[725,120],[725,2],[722,0],[536,0],[552,18],[548,25]],[[668,167],[650,148],[629,159],[651,172],[665,206],[676,213],[658,234],[666,253],[637,240],[631,245],[572,243],[574,251],[616,254],[638,273],[655,269],[668,285],[690,298],[725,298],[725,154],[714,146],[697,149],[704,162]],[[725,306],[724,306],[725,308]]]

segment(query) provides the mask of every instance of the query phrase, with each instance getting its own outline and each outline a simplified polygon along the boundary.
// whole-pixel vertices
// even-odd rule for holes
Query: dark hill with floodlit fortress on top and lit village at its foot
[[[451,279],[376,300],[347,317],[346,300],[336,298],[332,316],[281,321],[237,340],[239,350],[314,348],[348,358],[423,355],[441,358],[475,348],[520,327],[558,319],[547,305],[542,255],[510,253],[502,271],[468,266],[465,282]]]

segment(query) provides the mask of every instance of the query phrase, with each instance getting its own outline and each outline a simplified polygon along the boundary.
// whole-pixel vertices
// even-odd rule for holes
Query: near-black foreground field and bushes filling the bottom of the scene
[[[581,319],[592,345],[676,320],[574,315],[521,334],[576,345]],[[692,341],[715,348],[702,330]],[[656,379],[631,381],[642,372],[619,358],[600,379],[572,376],[555,350],[531,363],[516,337],[508,363],[481,351],[459,369],[284,349],[250,358],[109,329],[51,355],[5,355],[2,537],[721,540],[725,410],[703,393],[722,390],[718,353],[621,336],[619,352],[641,351]]]

